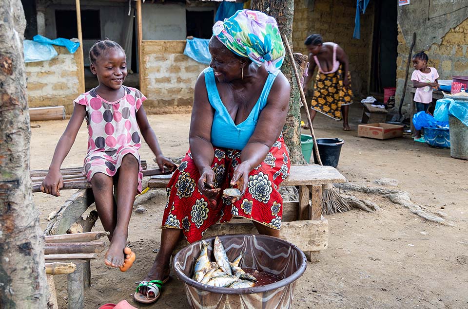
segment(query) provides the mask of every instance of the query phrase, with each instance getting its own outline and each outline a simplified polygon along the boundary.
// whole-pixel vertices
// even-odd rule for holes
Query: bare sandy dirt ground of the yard
[[[409,136],[387,141],[357,137],[361,108],[351,108],[351,132],[342,123],[318,115],[317,137],[345,140],[338,169],[348,181],[376,185],[375,179],[399,181],[398,188],[431,213],[453,226],[428,222],[380,196],[356,194],[376,202],[375,213],[352,210],[326,216],[330,223],[329,248],[319,263],[309,263],[298,280],[293,308],[446,308],[468,309],[468,161],[450,158],[448,149],[415,143]],[[190,114],[149,116],[166,156],[180,157],[188,149]],[[32,125],[31,169],[49,166],[54,147],[67,121]],[[304,133],[307,133],[304,131]],[[80,166],[86,153],[87,131],[78,138],[62,167]],[[141,157],[154,164],[147,145]],[[59,198],[35,193],[42,227],[72,191]],[[137,261],[127,273],[108,269],[103,255],[91,262],[92,286],[85,290],[85,308],[128,300],[137,308],[188,308],[183,285],[172,274],[156,304],[133,301],[132,293],[152,265],[159,247],[165,193],[149,200],[146,213],[134,213],[129,243]],[[102,230],[99,221],[93,230]],[[66,276],[55,276],[59,308],[67,308]]]

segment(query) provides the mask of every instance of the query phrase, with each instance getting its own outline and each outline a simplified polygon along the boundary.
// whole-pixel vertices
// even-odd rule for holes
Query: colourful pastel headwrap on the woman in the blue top
[[[276,20],[259,11],[239,10],[213,26],[213,35],[234,54],[248,57],[274,73],[286,54]]]

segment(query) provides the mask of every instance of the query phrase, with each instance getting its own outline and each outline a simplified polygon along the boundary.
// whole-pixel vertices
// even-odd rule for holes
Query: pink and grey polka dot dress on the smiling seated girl
[[[137,89],[122,86],[124,96],[108,102],[92,89],[80,94],[73,101],[86,107],[88,125],[88,154],[84,159],[84,171],[89,181],[96,173],[116,175],[122,159],[132,154],[139,164],[138,193],[143,178],[138,149],[141,146],[136,113],[146,97]]]

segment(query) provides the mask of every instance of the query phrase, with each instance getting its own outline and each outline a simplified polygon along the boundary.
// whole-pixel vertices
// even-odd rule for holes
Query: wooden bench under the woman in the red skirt
[[[148,187],[165,188],[170,179],[171,175],[152,176]],[[328,247],[328,220],[322,217],[322,185],[339,182],[346,182],[346,178],[331,166],[292,165],[290,175],[280,184],[298,186],[299,189],[298,201],[283,203],[280,237],[298,246],[311,262],[318,262],[320,251]],[[215,224],[207,230],[204,238],[255,233],[254,225],[243,220],[240,223]]]

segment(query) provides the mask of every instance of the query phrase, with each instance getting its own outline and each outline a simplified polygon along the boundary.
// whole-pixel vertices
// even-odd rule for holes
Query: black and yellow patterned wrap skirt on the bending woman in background
[[[351,74],[348,73],[351,85]],[[352,104],[351,87],[343,85],[343,74],[340,68],[333,73],[317,73],[313,87],[311,109],[336,120],[341,120],[341,107]]]

